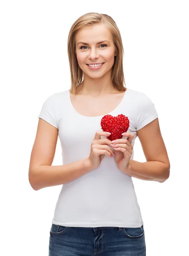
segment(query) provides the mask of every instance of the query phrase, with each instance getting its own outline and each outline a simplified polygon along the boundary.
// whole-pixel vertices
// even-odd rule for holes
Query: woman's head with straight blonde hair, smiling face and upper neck
[[[71,26],[67,47],[71,94],[79,94],[83,87],[90,92],[93,88],[103,92],[104,86],[111,88],[106,90],[109,93],[125,92],[123,45],[119,29],[110,16],[89,12],[79,17]],[[101,63],[100,68],[87,65]]]

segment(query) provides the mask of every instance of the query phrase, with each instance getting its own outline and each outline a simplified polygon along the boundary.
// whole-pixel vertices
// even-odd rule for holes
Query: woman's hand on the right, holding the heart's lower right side
[[[127,169],[129,169],[128,163],[133,152],[133,145],[131,142],[134,138],[134,134],[124,132],[122,135],[128,138],[113,140],[110,146],[114,149],[114,153],[116,154],[114,159],[119,170],[126,173]]]

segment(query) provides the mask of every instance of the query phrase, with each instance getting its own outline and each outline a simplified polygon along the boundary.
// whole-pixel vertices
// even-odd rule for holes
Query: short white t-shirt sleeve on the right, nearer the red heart
[[[140,93],[137,105],[137,131],[158,117],[154,103],[144,93]]]

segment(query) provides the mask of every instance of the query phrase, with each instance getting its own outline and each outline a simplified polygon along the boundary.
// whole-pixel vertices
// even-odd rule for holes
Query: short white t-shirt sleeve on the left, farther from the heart
[[[55,104],[55,93],[49,96],[42,108],[38,118],[44,119],[49,124],[53,125],[58,129],[57,121],[56,121],[56,104]]]

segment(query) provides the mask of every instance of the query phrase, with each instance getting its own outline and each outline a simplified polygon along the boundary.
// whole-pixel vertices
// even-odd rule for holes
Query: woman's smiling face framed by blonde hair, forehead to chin
[[[100,78],[112,68],[116,49],[105,24],[96,24],[77,32],[76,56],[81,70],[91,78]],[[102,65],[90,67],[89,64]]]

